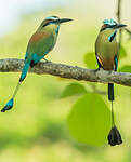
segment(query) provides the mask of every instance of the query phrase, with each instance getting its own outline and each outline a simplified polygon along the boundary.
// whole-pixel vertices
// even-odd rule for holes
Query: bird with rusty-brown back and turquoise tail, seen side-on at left
[[[18,83],[15,87],[15,91],[11,97],[11,99],[6,103],[6,105],[1,109],[1,112],[5,112],[10,110],[14,106],[14,98],[17,94],[17,91],[25,80],[29,68],[36,66],[42,58],[45,59],[45,55],[54,48],[58,31],[60,25],[66,22],[70,22],[70,18],[60,18],[58,16],[49,16],[42,21],[37,31],[31,36],[26,54],[24,59],[24,67],[22,69],[22,73],[18,80]]]

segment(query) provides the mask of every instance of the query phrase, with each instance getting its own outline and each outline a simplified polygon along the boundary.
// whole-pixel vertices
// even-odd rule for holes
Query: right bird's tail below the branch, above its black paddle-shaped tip
[[[108,83],[108,100],[112,102],[112,125],[115,126],[115,121],[114,121],[114,109],[113,109],[113,102],[114,102],[114,84]]]

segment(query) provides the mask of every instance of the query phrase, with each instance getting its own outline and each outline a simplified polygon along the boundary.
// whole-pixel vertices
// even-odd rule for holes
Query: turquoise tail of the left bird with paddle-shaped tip
[[[13,105],[14,105],[14,97],[16,96],[17,94],[17,91],[22,84],[22,82],[24,81],[24,79],[26,78],[26,75],[28,72],[28,69],[29,69],[29,64],[28,63],[25,63],[24,67],[23,67],[23,70],[22,70],[22,75],[21,75],[21,78],[19,78],[19,81],[17,83],[17,86],[15,87],[15,91],[13,93],[13,96],[12,98],[6,103],[6,105],[2,108],[1,112],[5,112],[6,110],[10,110],[11,108],[13,108]]]

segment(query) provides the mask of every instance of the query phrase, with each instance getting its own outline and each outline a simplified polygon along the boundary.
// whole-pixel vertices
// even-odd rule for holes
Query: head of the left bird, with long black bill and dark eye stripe
[[[43,29],[48,30],[55,30],[56,33],[58,32],[60,25],[66,22],[73,21],[70,18],[60,18],[57,16],[50,16],[43,19],[40,27],[38,28],[39,31],[42,31]]]

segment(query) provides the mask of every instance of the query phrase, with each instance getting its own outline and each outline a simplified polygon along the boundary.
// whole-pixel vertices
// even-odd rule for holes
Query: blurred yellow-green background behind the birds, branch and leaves
[[[131,1],[122,2],[122,22],[131,27]],[[117,0],[4,0],[0,2],[0,58],[24,58],[30,36],[44,17],[58,15],[74,22],[61,26],[55,49],[47,56],[55,63],[86,67],[83,57],[94,52],[94,41],[105,18],[116,19]],[[131,63],[131,40],[123,33]],[[0,73],[0,107],[16,86],[19,73]],[[0,162],[130,162],[131,90],[116,85],[115,112],[123,145],[93,147],[70,135],[67,117],[76,97],[62,99],[71,81],[29,73],[12,111],[0,113]],[[84,82],[82,82],[84,84]],[[87,83],[86,83],[87,84]],[[99,85],[106,91],[106,85]],[[106,98],[106,97],[105,97]],[[106,98],[107,99],[107,98]]]

